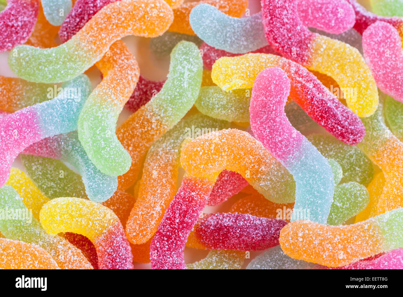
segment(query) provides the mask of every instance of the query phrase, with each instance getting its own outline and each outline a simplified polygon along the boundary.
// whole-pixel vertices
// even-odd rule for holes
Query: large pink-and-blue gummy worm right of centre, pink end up
[[[288,121],[284,106],[290,88],[290,80],[280,68],[260,72],[252,88],[251,128],[295,179],[293,219],[325,223],[333,201],[333,173],[326,159]],[[294,216],[296,210],[303,217]]]

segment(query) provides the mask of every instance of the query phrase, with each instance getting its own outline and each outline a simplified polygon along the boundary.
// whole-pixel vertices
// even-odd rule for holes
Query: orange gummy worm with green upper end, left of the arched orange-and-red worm
[[[183,141],[228,127],[224,121],[195,114],[181,120],[153,143],[145,157],[139,194],[126,225],[131,243],[141,244],[152,238],[174,198]]]

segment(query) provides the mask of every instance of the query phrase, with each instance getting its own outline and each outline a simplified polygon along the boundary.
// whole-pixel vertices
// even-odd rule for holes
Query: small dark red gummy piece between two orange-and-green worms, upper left
[[[140,75],[133,94],[131,94],[129,100],[127,100],[125,107],[133,113],[137,112],[141,106],[145,105],[152,97],[161,91],[164,82],[165,80],[149,80]]]

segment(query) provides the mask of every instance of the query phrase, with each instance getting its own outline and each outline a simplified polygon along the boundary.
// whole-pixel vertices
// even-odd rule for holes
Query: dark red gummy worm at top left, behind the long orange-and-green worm
[[[77,0],[59,29],[59,38],[66,42],[102,9],[117,0]]]

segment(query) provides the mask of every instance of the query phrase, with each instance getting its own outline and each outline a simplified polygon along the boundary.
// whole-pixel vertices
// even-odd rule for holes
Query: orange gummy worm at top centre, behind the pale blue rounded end
[[[231,17],[241,17],[248,7],[247,0],[200,0],[195,2],[186,2],[173,10],[174,21],[168,31],[195,34],[191,27],[189,16],[192,9],[198,4],[210,4],[215,6],[222,13]]]

